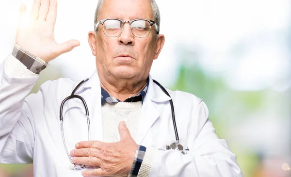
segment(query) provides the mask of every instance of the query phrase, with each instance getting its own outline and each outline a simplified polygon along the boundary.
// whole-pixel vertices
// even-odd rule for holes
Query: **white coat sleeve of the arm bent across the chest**
[[[157,150],[150,177],[242,177],[236,156],[219,139],[203,101],[193,110],[188,137],[190,151]]]

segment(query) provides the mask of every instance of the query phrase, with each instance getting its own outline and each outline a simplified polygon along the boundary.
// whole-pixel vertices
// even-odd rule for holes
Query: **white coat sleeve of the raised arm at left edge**
[[[0,163],[32,163],[35,131],[25,97],[38,76],[10,76],[8,70],[15,60],[9,55],[0,65]]]

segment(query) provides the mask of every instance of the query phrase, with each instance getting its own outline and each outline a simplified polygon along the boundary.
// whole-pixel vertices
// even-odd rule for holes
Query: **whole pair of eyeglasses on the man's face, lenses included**
[[[156,32],[158,31],[158,26],[156,22],[148,19],[134,19],[131,21],[123,21],[118,18],[106,18],[99,20],[95,24],[95,31],[97,31],[98,25],[103,26],[103,32],[108,37],[117,37],[123,31],[123,26],[125,23],[129,23],[130,30],[135,37],[144,38],[147,37],[150,33],[151,27],[154,25]]]

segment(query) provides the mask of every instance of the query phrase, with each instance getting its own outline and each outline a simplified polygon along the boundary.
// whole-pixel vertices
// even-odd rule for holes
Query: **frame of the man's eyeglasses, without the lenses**
[[[104,32],[104,27],[103,27],[103,24],[104,24],[104,22],[105,22],[106,20],[118,20],[118,21],[120,21],[120,22],[122,23],[122,29],[121,29],[121,32],[120,32],[118,35],[116,35],[116,36],[108,36],[108,35],[106,35],[106,33]],[[107,37],[117,37],[117,36],[119,36],[119,35],[123,32],[123,28],[124,28],[124,24],[125,24],[125,23],[129,23],[129,25],[131,25],[132,22],[137,21],[137,20],[146,20],[146,21],[148,21],[148,22],[150,23],[150,30],[149,30],[147,36],[150,34],[151,27],[152,27],[153,25],[154,25],[154,27],[155,27],[155,29],[156,29],[157,34],[159,34],[158,26],[157,26],[156,22],[155,22],[155,21],[152,21],[152,20],[148,20],[148,19],[143,19],[143,18],[133,19],[133,20],[131,20],[131,21],[128,21],[128,20],[122,20],[122,19],[119,19],[119,18],[105,18],[105,19],[101,19],[101,20],[99,20],[97,23],[95,23],[95,31],[97,32],[98,25],[101,24],[101,25],[102,25],[102,29],[103,29],[103,33],[104,33]],[[131,28],[130,28],[130,31],[131,31],[131,33],[134,35],[134,33],[132,32],[132,29],[131,29]],[[134,36],[135,36],[135,37],[138,37],[138,36],[136,36],[136,35],[134,35]],[[145,37],[147,37],[147,36],[145,36]],[[145,37],[138,37],[138,38],[145,38]]]

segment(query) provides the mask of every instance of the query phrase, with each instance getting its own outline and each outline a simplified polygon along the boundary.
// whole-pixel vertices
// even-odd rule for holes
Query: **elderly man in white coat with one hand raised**
[[[88,34],[97,72],[28,97],[39,72],[79,42],[55,42],[56,0],[34,0],[29,26],[25,11],[0,67],[1,163],[33,162],[36,177],[242,177],[205,103],[149,75],[165,41],[154,0],[99,0]]]

